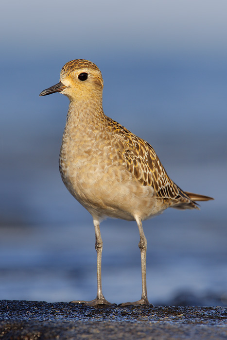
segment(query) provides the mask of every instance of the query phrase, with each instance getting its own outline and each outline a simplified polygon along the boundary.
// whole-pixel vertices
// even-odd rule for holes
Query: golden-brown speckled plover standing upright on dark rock
[[[97,296],[91,301],[72,301],[87,306],[111,306],[102,291],[103,241],[100,222],[105,218],[136,221],[140,234],[141,299],[121,306],[147,305],[146,249],[142,221],[168,207],[199,209],[196,201],[213,198],[183,191],[168,176],[155,150],[142,138],[103,111],[103,77],[92,62],[67,62],[60,81],[39,96],[60,92],[70,100],[62,137],[59,169],[71,195],[93,218],[97,252]]]

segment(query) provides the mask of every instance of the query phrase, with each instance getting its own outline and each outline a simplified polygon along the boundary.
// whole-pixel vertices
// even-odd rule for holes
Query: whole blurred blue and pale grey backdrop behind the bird
[[[179,187],[215,199],[143,223],[149,300],[227,306],[226,2],[142,0],[128,12],[125,0],[66,0],[67,25],[58,0],[13,2],[0,14],[0,299],[96,295],[92,218],[58,170],[69,101],[38,97],[85,58],[102,71],[105,114],[151,143]],[[139,299],[136,223],[106,220],[101,234],[105,298]]]

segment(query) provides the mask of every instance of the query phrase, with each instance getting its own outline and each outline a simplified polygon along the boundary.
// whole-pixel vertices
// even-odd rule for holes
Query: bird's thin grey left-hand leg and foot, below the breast
[[[99,220],[93,219],[94,227],[95,227],[95,249],[97,252],[97,297],[91,301],[71,301],[74,304],[82,304],[85,306],[116,306],[116,304],[111,304],[107,300],[102,292],[102,251],[103,251],[103,241],[101,238],[100,228],[99,228]]]

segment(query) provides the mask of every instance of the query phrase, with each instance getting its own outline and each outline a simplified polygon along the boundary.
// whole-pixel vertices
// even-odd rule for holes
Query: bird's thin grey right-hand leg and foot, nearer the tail
[[[137,306],[137,305],[146,305],[154,307],[152,304],[149,303],[147,298],[147,283],[146,283],[146,251],[147,251],[147,240],[143,233],[142,222],[141,219],[136,217],[137,225],[139,228],[140,233],[140,255],[141,255],[141,273],[142,273],[142,296],[141,299],[135,302],[125,302],[120,304],[119,306]]]

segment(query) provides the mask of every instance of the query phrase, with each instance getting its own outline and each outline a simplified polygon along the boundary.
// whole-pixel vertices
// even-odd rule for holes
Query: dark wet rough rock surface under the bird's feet
[[[227,308],[0,301],[0,339],[227,339]]]

